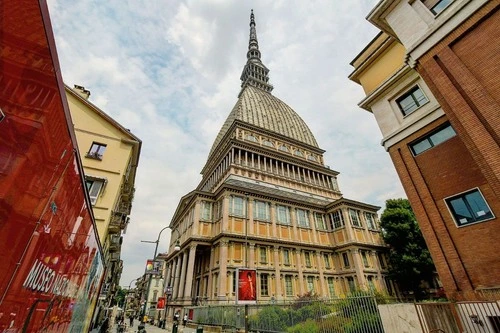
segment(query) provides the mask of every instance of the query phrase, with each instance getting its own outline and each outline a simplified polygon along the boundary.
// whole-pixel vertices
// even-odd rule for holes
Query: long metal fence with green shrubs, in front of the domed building
[[[373,296],[296,301],[287,304],[217,305],[189,308],[197,324],[219,326],[225,332],[245,328],[259,333],[384,333]]]

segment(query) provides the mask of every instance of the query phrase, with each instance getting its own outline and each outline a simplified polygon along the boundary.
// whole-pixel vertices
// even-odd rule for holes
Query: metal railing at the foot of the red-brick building
[[[424,333],[500,333],[498,302],[417,303]]]

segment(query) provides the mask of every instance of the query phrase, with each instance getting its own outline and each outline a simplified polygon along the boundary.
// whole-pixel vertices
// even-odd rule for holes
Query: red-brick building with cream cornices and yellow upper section
[[[500,297],[499,1],[383,0],[351,63],[448,297]],[[387,65],[390,64],[390,65]]]

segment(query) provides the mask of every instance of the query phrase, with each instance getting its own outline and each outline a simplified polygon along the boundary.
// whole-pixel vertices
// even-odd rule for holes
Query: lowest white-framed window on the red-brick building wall
[[[461,193],[445,201],[459,227],[493,218],[493,213],[479,189]]]

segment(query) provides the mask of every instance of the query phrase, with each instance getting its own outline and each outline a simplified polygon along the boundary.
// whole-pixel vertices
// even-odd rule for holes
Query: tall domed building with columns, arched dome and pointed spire
[[[268,74],[252,12],[238,100],[200,184],[181,198],[170,223],[168,315],[187,305],[236,303],[239,271],[255,274],[252,301],[259,303],[391,290],[380,207],[342,196],[339,173],[325,165],[307,124],[272,95]]]

